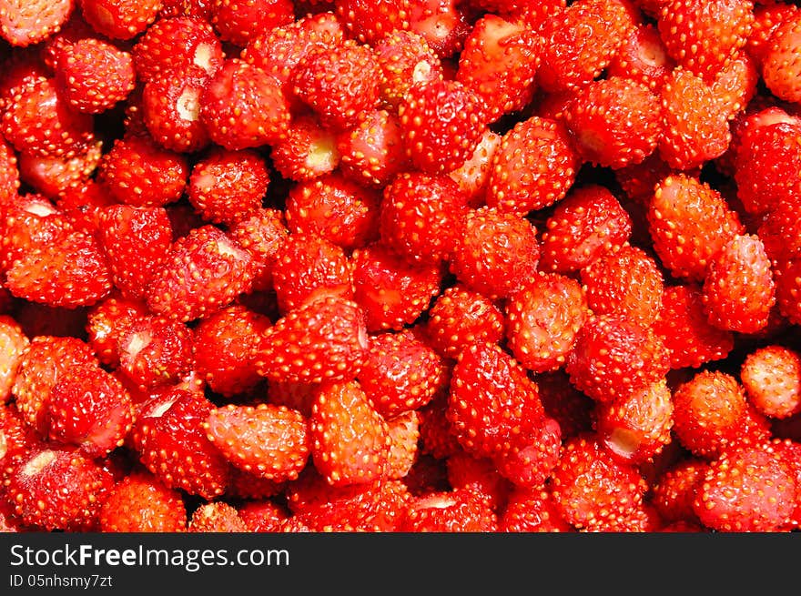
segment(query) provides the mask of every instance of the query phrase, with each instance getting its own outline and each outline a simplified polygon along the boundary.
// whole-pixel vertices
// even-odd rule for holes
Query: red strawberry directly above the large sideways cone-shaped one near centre
[[[290,234],[275,255],[273,288],[283,314],[316,298],[353,298],[345,251],[317,234]]]

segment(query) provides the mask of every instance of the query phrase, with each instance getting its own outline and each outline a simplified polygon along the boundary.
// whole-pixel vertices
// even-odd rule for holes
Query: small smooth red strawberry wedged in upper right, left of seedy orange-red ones
[[[657,92],[673,67],[656,25],[640,23],[629,31],[606,71],[609,76],[624,76]]]

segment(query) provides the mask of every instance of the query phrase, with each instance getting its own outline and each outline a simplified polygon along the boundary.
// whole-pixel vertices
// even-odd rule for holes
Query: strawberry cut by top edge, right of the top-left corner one
[[[153,23],[161,0],[81,0],[86,23],[112,39],[132,39]]]

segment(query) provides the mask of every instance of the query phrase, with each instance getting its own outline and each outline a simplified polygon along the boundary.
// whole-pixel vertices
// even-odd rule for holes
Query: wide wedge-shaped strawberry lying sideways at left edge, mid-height
[[[106,256],[95,237],[71,232],[31,247],[6,271],[5,287],[18,298],[52,307],[91,306],[111,291]]]

